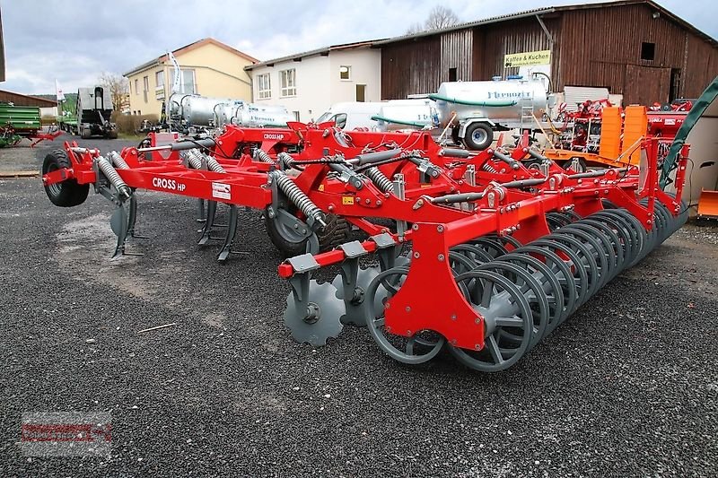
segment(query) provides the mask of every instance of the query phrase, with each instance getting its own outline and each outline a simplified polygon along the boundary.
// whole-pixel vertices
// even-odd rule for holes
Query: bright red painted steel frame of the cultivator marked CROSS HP
[[[639,170],[607,169],[596,178],[581,175],[572,177],[556,164],[550,165],[547,180],[531,191],[503,187],[501,183],[543,176],[537,170],[512,169],[505,162],[497,161],[491,150],[480,152],[466,159],[442,156],[441,148],[426,133],[367,133],[352,132],[352,143],[341,144],[328,128],[307,128],[271,130],[275,135],[267,139],[267,130],[244,130],[229,127],[225,135],[216,139],[215,159],[226,173],[208,170],[188,169],[176,153],[166,159],[146,161],[144,153],[136,148],[126,148],[121,156],[129,169],[118,169],[118,175],[133,188],[168,192],[208,201],[217,201],[213,196],[213,183],[230,185],[231,196],[219,202],[264,209],[272,204],[272,189],[267,184],[267,172],[274,166],[252,161],[243,144],[262,141],[267,150],[276,153],[296,144],[302,144],[297,159],[316,159],[342,153],[346,157],[366,152],[369,146],[392,149],[398,146],[406,151],[419,150],[442,171],[428,183],[422,183],[411,161],[395,161],[383,164],[380,169],[389,178],[401,172],[407,179],[406,199],[381,192],[370,181],[361,189],[349,186],[336,178],[328,177],[327,164],[308,164],[295,178],[294,183],[311,198],[324,212],[336,213],[369,234],[387,232],[386,228],[368,222],[366,217],[383,217],[413,224],[404,237],[398,241],[412,241],[412,263],[407,279],[398,293],[390,298],[386,307],[386,326],[397,335],[412,336],[416,332],[430,329],[446,337],[451,344],[465,349],[480,349],[484,346],[484,324],[459,290],[448,261],[450,248],[486,234],[509,235],[526,244],[550,232],[546,213],[551,211],[574,210],[581,216],[595,213],[603,208],[606,199],[624,207],[632,213],[646,230],[652,228],[653,207],[656,200],[666,204],[674,215],[679,214],[679,200],[665,194],[658,187],[657,139],[644,142],[648,164],[644,187],[640,189]],[[276,132],[278,131],[278,132]],[[346,139],[346,136],[344,136]],[[76,143],[65,143],[73,167],[59,169],[43,176],[45,185],[74,178],[80,184],[95,183],[97,176],[92,161],[99,156],[97,150],[78,148]],[[232,152],[230,152],[232,150]],[[229,154],[238,157],[225,157]],[[528,150],[517,148],[513,159],[521,159]],[[685,175],[684,151],[682,166],[679,168],[676,184],[680,197]],[[498,172],[486,172],[485,163]],[[464,181],[469,166],[474,166],[477,175],[475,186]],[[640,189],[640,190],[639,190]],[[451,193],[483,192],[483,197],[474,203],[472,211],[447,205],[433,204],[432,196]],[[639,203],[647,198],[644,206]],[[377,248],[372,240],[363,242],[367,252]],[[314,256],[319,265],[342,262],[346,257],[342,250],[333,250]],[[285,263],[278,266],[278,274],[289,278],[296,274],[293,266]],[[426,284],[431,283],[432,294],[423,293]],[[438,301],[436,294],[448,299]],[[447,308],[447,303],[450,305]]]

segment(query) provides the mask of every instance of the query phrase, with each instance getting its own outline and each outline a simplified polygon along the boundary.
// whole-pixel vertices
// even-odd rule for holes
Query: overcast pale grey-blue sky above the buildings
[[[443,0],[461,22],[577,0]],[[718,38],[718,1],[659,4]],[[6,76],[0,89],[54,93],[122,74],[197,39],[214,37],[260,60],[362,39],[395,37],[424,22],[437,0],[0,0]],[[626,25],[626,28],[631,28]],[[597,42],[601,39],[597,37]],[[610,41],[610,39],[607,39]]]

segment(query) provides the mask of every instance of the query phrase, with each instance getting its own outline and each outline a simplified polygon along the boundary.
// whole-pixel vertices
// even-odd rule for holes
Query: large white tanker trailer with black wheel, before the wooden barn
[[[456,143],[469,150],[485,150],[494,141],[495,131],[515,128],[536,129],[536,119],[553,106],[539,80],[499,80],[493,82],[446,82],[430,94],[442,127],[451,126]]]

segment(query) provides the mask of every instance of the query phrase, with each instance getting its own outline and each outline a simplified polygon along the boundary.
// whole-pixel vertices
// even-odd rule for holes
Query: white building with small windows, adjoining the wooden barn
[[[252,100],[309,122],[340,101],[381,100],[381,50],[372,41],[320,48],[245,66]]]

